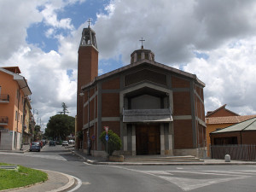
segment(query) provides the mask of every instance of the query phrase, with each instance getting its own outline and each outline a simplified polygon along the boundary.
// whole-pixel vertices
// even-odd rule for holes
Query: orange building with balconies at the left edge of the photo
[[[24,101],[31,94],[19,67],[0,67],[0,149],[21,148]]]

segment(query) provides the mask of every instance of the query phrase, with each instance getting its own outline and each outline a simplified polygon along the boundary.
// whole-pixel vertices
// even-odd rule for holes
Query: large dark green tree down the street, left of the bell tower
[[[67,114],[56,114],[49,118],[44,135],[46,137],[65,140],[67,136],[75,131],[75,118]]]

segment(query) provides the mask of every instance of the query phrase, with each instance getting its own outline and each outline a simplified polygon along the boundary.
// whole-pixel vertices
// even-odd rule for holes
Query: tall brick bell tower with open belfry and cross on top
[[[78,90],[77,90],[77,131],[83,128],[84,96],[80,96],[81,87],[89,84],[98,76],[98,49],[96,33],[90,28],[90,19],[87,28],[83,29],[79,45],[78,61]],[[79,143],[77,143],[79,144]]]

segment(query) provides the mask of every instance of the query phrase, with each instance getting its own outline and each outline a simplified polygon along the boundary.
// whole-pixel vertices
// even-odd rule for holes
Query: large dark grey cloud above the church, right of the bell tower
[[[254,1],[117,0],[106,9],[108,15],[99,13],[94,26],[101,56],[121,53],[125,63],[140,49],[141,37],[158,61],[173,64],[190,61],[194,49],[211,50],[231,38],[252,35],[256,26]]]

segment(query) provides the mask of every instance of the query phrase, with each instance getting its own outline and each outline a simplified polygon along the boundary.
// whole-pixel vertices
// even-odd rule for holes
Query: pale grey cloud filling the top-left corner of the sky
[[[26,28],[43,17],[36,7],[38,1],[0,1],[0,61],[8,59],[20,46],[26,44]]]

